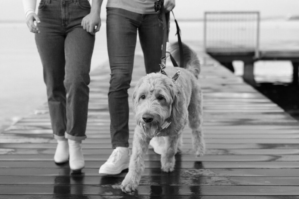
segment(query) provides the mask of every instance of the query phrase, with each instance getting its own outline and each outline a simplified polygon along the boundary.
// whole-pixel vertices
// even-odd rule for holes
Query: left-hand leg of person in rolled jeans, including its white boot
[[[54,155],[56,163],[68,161],[65,98],[63,85],[65,75],[65,54],[63,30],[61,28],[61,3],[47,1],[39,7],[38,24],[40,33],[35,34],[36,46],[42,61],[44,81],[47,88],[48,107],[57,148]]]

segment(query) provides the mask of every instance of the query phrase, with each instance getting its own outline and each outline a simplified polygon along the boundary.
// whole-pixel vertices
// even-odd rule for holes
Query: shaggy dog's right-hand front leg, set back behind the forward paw
[[[181,131],[178,132],[181,134]],[[165,137],[165,149],[161,154],[161,169],[164,172],[173,172],[176,159],[176,155],[179,144],[179,135],[166,136]]]

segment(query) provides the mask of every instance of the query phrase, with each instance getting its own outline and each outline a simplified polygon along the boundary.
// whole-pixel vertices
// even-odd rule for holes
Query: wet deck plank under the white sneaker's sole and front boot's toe
[[[179,162],[177,162],[179,163]],[[85,176],[94,176],[98,174],[98,168],[84,168],[83,172]],[[160,168],[145,168],[143,176],[258,176],[258,177],[299,177],[299,169],[175,169],[174,172],[165,173]],[[118,176],[125,176],[127,170],[124,170]],[[2,168],[0,170],[0,176],[53,176],[53,175],[70,175],[69,168]]]

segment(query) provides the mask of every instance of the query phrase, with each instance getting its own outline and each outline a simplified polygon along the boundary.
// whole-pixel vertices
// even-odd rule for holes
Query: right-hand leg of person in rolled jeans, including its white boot
[[[65,79],[66,118],[65,138],[69,145],[69,164],[72,170],[84,167],[81,141],[86,138],[89,102],[89,71],[94,39],[83,30],[81,21],[90,12],[87,0],[65,2],[63,26],[65,28]]]

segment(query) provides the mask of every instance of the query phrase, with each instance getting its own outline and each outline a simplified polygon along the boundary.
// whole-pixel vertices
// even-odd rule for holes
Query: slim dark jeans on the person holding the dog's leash
[[[112,148],[129,146],[127,91],[132,79],[137,30],[146,72],[158,72],[163,26],[159,26],[157,14],[143,15],[120,8],[107,8],[107,45],[111,69],[108,101]]]

